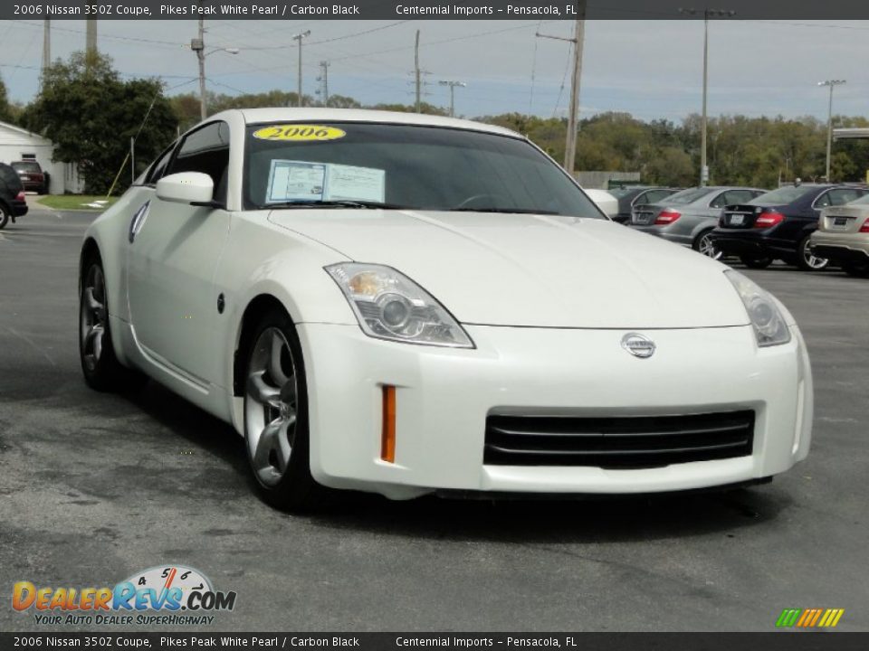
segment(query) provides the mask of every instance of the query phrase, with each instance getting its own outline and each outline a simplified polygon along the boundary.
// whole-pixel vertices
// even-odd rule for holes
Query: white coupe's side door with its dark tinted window
[[[229,142],[229,125],[222,121],[190,132],[165,175],[205,173],[215,182],[215,201],[225,203]],[[167,202],[156,192],[149,196],[131,224],[127,257],[130,322],[138,344],[152,363],[188,381],[203,387],[218,383],[219,356],[212,352],[218,314],[215,269],[230,214]]]

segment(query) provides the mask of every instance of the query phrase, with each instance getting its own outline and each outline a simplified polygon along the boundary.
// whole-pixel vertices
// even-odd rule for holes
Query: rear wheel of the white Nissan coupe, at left
[[[84,382],[99,392],[138,391],[147,378],[121,364],[115,355],[102,260],[93,256],[82,269],[79,282],[79,360]],[[100,307],[94,307],[94,303]],[[101,334],[94,334],[98,329]]]

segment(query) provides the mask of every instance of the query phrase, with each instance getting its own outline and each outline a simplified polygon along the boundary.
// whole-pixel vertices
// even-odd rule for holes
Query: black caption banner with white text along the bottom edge
[[[2,649],[864,651],[869,633],[0,633]]]

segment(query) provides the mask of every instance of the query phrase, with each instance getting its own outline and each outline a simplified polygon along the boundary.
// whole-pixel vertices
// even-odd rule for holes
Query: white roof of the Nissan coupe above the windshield
[[[402,113],[399,111],[381,111],[369,109],[317,109],[317,108],[273,108],[273,109],[231,109],[224,113],[238,112],[244,118],[245,124],[263,124],[268,122],[369,122],[418,127],[443,127],[464,129],[466,131],[482,131],[525,139],[519,133],[504,127],[483,124],[472,120],[444,118],[443,116],[422,115],[420,113]],[[217,118],[219,115],[213,116]]]

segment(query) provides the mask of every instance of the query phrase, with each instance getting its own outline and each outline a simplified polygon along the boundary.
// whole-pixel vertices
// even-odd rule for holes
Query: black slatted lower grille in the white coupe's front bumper
[[[753,440],[752,410],[623,418],[490,416],[483,463],[662,467],[747,457]]]

